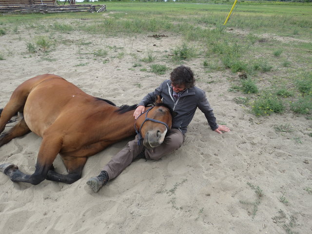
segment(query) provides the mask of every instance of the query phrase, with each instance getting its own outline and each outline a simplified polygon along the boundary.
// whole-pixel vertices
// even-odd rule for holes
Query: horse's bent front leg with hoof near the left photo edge
[[[36,170],[32,175],[22,173],[18,166],[8,163],[0,165],[0,171],[9,176],[13,182],[39,184],[47,177],[48,171],[51,169],[60,148],[60,140],[44,138],[37,157]]]

